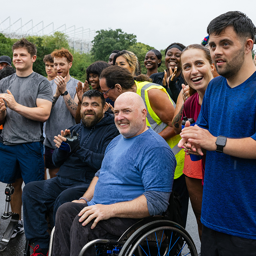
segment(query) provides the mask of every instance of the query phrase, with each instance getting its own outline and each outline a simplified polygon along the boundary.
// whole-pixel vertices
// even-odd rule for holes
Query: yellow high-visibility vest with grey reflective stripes
[[[169,94],[166,92],[165,88],[163,86],[160,86],[159,84],[150,83],[147,81],[144,82],[137,82],[135,81],[135,84],[137,86],[137,94],[142,97],[142,99],[145,102],[146,109],[147,109],[147,126],[150,126],[154,131],[157,133],[160,133],[164,128],[167,126],[166,123],[163,123],[160,118],[156,115],[156,113],[152,110],[151,105],[149,103],[149,98],[147,92],[150,89],[156,88],[164,91],[167,96],[169,97],[170,101],[172,102],[172,105],[175,107],[175,103],[170,98]],[[166,142],[169,144],[170,148],[172,149],[173,154],[175,155],[177,166],[174,173],[174,178],[177,179],[182,175],[182,170],[184,167],[184,157],[185,152],[182,148],[178,147],[178,143],[180,141],[181,137],[180,135],[173,136],[170,139],[167,139]],[[182,150],[181,150],[182,149]]]

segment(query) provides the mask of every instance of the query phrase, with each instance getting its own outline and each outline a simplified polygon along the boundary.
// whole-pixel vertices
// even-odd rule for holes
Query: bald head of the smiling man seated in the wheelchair
[[[143,99],[135,92],[124,92],[115,100],[115,125],[125,138],[146,131],[147,110]]]

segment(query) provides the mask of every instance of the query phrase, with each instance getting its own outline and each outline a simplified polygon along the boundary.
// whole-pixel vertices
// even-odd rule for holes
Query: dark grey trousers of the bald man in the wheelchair
[[[110,218],[100,220],[91,229],[93,220],[86,226],[79,222],[78,213],[87,204],[65,203],[59,207],[56,214],[53,240],[53,256],[77,256],[84,245],[97,238],[118,239],[131,225],[139,219]],[[84,255],[95,255],[93,247]]]

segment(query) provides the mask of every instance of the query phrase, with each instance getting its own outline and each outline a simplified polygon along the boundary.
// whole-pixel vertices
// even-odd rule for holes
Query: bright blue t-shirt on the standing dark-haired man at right
[[[234,88],[224,77],[214,78],[196,123],[216,137],[256,140],[256,72]],[[206,227],[256,239],[255,171],[256,159],[207,151],[201,212]]]

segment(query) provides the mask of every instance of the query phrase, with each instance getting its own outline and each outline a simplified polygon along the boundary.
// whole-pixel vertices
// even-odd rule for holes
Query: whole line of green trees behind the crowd
[[[37,47],[37,59],[33,65],[33,70],[42,76],[46,76],[45,65],[43,62],[44,55],[53,52],[55,49],[64,47],[73,54],[73,65],[70,69],[70,75],[74,78],[85,81],[86,68],[97,60],[104,60],[108,62],[109,55],[112,50],[129,50],[134,52],[141,63],[141,71],[143,74],[147,73],[144,67],[144,57],[150,49],[154,49],[149,45],[137,42],[136,35],[127,34],[122,29],[116,30],[100,30],[96,32],[97,35],[92,41],[93,46],[91,52],[80,53],[75,51],[68,45],[67,36],[62,32],[55,32],[51,36],[28,36],[28,41],[34,42]],[[0,33],[0,55],[7,55],[12,59],[12,45],[18,39],[10,39]],[[158,68],[158,72],[164,71],[166,68],[164,65],[164,50],[162,53],[162,65]]]

